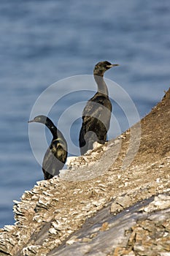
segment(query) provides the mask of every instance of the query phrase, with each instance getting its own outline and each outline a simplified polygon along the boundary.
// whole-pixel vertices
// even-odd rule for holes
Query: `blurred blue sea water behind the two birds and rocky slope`
[[[1,227],[14,223],[12,200],[20,200],[43,178],[29,145],[27,123],[39,94],[63,78],[90,75],[98,61],[108,60],[120,67],[110,69],[105,77],[128,92],[142,118],[169,89],[169,12],[169,0],[1,1]],[[67,89],[63,87],[63,95]],[[85,91],[63,97],[50,118],[57,124],[58,113],[92,95]],[[114,102],[113,107],[124,131],[128,122],[123,111]],[[40,124],[32,125],[36,132],[42,129]],[[77,145],[80,118],[68,129]],[[117,133],[111,129],[109,138]],[[47,137],[50,141],[48,132]]]

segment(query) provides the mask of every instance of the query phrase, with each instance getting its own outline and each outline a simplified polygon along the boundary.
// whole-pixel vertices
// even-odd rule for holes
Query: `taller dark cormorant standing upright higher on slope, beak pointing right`
[[[109,100],[107,85],[104,82],[104,72],[115,66],[118,64],[101,61],[96,64],[93,70],[98,91],[88,100],[82,112],[82,127],[79,137],[81,154],[92,149],[95,141],[104,144],[107,140],[112,104]]]

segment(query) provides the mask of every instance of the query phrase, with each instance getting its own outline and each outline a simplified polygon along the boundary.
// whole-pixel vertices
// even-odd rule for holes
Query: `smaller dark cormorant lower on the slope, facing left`
[[[63,168],[67,157],[67,143],[65,138],[63,138],[62,133],[47,116],[36,116],[33,120],[28,121],[28,123],[31,122],[45,124],[53,135],[53,140],[51,141],[49,148],[47,148],[42,162],[42,171],[45,180],[47,180],[58,175],[59,170]]]

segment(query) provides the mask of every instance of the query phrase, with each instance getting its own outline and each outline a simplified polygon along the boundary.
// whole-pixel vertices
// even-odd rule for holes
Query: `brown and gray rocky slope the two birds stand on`
[[[168,256],[169,113],[170,90],[139,124],[26,191],[0,255]]]

